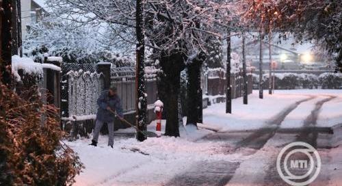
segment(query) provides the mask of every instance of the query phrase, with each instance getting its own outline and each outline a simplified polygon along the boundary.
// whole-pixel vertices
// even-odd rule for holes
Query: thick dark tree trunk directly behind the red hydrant
[[[163,52],[159,60],[163,73],[159,75],[158,93],[164,103],[166,114],[165,135],[174,137],[179,137],[178,94],[185,61],[185,55],[177,51]]]

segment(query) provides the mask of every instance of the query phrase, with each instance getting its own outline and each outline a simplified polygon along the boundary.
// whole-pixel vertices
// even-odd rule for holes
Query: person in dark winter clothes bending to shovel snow
[[[106,122],[109,132],[108,146],[113,148],[114,118],[116,114],[120,120],[123,120],[124,117],[122,113],[121,101],[116,92],[117,88],[115,86],[111,86],[109,90],[104,90],[97,99],[98,110],[96,114],[94,135],[92,138],[92,143],[90,144],[92,146],[97,146],[98,135],[100,134],[103,123]],[[116,111],[116,114],[114,111]]]

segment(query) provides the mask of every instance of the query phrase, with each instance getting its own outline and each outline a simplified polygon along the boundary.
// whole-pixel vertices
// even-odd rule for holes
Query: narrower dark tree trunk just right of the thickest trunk
[[[200,53],[191,64],[187,66],[187,124],[197,126],[202,122],[202,89],[200,88],[200,68],[205,61],[205,54]]]

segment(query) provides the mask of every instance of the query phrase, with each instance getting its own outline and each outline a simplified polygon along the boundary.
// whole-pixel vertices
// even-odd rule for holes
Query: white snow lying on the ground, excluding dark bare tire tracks
[[[303,120],[315,109],[315,104],[329,96],[336,97],[321,105],[317,126],[331,127],[342,123],[342,90],[278,90],[272,96],[265,91],[263,100],[259,99],[258,92],[254,91],[249,96],[248,105],[242,104],[242,98],[233,100],[233,114],[225,114],[224,103],[209,106],[203,110],[204,124],[199,124],[200,129],[187,127],[181,131],[181,137],[178,138],[150,137],[144,142],[137,142],[134,137],[125,135],[133,130],[124,129],[116,132],[114,149],[107,147],[106,136],[100,137],[99,147],[88,146],[90,139],[66,142],[79,154],[86,166],[77,176],[75,185],[168,185],[172,178],[198,165],[198,162],[214,161],[240,163],[228,185],[248,185],[253,183],[253,180],[257,183],[269,174],[266,171],[269,166],[267,163],[273,162],[279,150],[275,146],[286,144],[293,139],[284,139],[276,134],[263,148],[250,155],[246,155],[244,151],[219,153],[233,146],[233,142],[227,144],[220,140],[200,140],[214,133],[204,128],[215,129],[220,133],[228,131],[228,136],[239,131],[254,131],[267,127],[269,120],[294,103],[308,99],[293,109],[280,126],[300,128],[303,127]],[[162,131],[164,129],[163,122]],[[155,122],[148,126],[148,131],[155,131]],[[335,171],[330,185],[334,185],[339,179],[338,174],[342,173],[342,147],[338,146],[341,140],[335,139],[337,148],[327,152],[333,156],[332,161],[337,163],[333,165]],[[263,171],[255,174],[256,168]],[[244,179],[246,176],[250,178]]]

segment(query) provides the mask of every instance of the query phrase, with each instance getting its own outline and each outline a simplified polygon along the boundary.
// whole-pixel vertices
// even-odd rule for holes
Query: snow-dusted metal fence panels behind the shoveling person
[[[62,118],[64,120],[93,119],[97,111],[97,98],[104,88],[104,75],[96,72],[96,64],[62,65]],[[146,68],[146,94],[148,105],[157,100],[156,69]],[[111,67],[111,85],[118,88],[124,112],[135,110],[135,68]],[[76,117],[75,117],[76,116]]]

